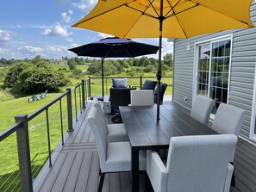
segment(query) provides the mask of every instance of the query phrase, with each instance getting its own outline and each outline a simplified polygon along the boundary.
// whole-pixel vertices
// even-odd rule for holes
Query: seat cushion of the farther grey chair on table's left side
[[[108,142],[128,141],[125,127],[122,123],[107,125]]]

